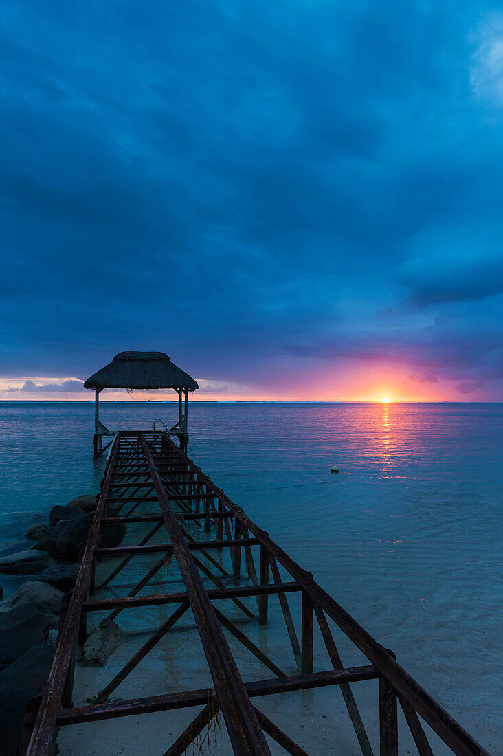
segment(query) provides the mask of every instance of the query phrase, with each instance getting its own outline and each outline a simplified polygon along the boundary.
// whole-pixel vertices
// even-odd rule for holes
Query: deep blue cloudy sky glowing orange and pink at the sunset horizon
[[[0,398],[145,349],[201,399],[503,401],[501,5],[15,0],[0,34]]]

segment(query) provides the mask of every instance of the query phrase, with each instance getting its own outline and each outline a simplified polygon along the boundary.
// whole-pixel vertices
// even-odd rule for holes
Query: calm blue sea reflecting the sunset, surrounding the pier
[[[101,414],[151,429],[175,405],[104,402]],[[194,402],[190,415],[205,472],[461,723],[477,711],[494,724],[503,405]],[[93,421],[92,404],[0,404],[4,552],[33,513],[98,491]]]

